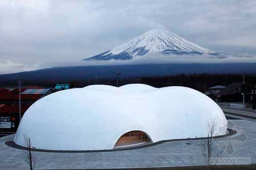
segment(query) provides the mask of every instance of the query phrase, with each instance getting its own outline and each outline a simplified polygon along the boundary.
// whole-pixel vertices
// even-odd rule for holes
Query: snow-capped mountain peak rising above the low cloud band
[[[222,55],[222,53],[203,48],[181,38],[166,28],[162,28],[149,30],[130,42],[84,60],[130,60],[136,56],[145,56],[151,53],[161,53],[166,55]]]

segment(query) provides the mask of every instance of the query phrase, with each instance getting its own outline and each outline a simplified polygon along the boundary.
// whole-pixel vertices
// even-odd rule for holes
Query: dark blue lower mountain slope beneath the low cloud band
[[[24,84],[38,85],[35,82],[68,83],[74,80],[105,78],[116,79],[115,70],[121,72],[121,79],[130,77],[168,76],[176,74],[255,74],[256,63],[222,63],[222,64],[138,64],[138,65],[98,65],[98,66],[70,66],[39,69],[35,71],[18,72],[0,75],[0,84],[16,84],[22,80]],[[101,81],[98,81],[101,83]]]

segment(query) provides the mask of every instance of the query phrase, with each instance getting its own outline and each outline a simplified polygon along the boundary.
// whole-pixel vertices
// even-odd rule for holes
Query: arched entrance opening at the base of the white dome
[[[136,147],[138,145],[150,143],[150,137],[148,137],[142,131],[130,131],[123,134],[116,142],[114,149],[123,147]]]

